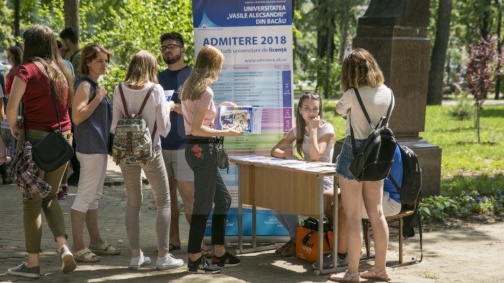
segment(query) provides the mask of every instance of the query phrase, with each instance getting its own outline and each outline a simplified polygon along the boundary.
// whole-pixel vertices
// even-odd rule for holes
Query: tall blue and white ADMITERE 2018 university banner
[[[231,156],[269,156],[293,126],[292,13],[290,0],[193,0],[195,57],[205,45],[214,45],[225,56],[221,74],[211,85],[216,105],[232,101],[262,108],[260,134],[225,138]],[[221,175],[237,208],[236,166]],[[230,220],[237,217],[228,218],[232,226]],[[278,226],[274,221],[258,225],[258,235],[272,235],[271,230],[262,231],[268,223]]]

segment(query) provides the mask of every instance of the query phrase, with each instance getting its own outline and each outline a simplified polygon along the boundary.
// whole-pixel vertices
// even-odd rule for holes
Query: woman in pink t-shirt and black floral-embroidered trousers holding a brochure
[[[214,129],[216,107],[210,85],[221,72],[224,55],[221,50],[207,45],[197,55],[193,72],[181,91],[182,113],[186,128],[186,160],[195,175],[195,201],[189,228],[188,273],[214,274],[221,268],[238,266],[240,261],[225,251],[225,218],[231,206],[231,196],[217,168],[216,136],[239,136],[235,127]],[[214,256],[210,265],[202,256],[202,241],[207,220],[215,204],[212,218],[211,243]],[[215,266],[216,265],[216,266]]]

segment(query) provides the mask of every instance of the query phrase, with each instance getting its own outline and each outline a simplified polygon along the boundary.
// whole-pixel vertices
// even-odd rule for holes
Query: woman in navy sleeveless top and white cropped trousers
[[[71,207],[73,259],[97,262],[102,254],[120,254],[120,249],[102,240],[98,230],[98,201],[109,153],[112,113],[106,90],[97,81],[106,73],[111,53],[97,44],[82,50],[80,64],[83,76],[75,82],[72,119],[75,124],[76,155],[80,162],[80,177],[75,201]],[[83,226],[90,235],[89,248],[84,245]]]

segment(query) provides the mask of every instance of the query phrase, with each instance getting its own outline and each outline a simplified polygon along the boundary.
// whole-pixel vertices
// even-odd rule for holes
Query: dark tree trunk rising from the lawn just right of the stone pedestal
[[[427,89],[427,104],[441,105],[443,71],[448,48],[451,0],[440,0],[437,13],[437,29],[432,55]]]

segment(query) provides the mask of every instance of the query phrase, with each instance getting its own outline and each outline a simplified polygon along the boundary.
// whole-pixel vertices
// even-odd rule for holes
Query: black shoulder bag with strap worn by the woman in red
[[[73,156],[73,148],[66,140],[66,138],[64,138],[61,132],[61,124],[59,124],[59,113],[57,109],[54,85],[52,85],[52,78],[47,66],[45,66],[45,64],[43,66],[49,78],[52,102],[55,106],[56,118],[58,121],[58,129],[52,131],[41,140],[38,140],[38,142],[31,148],[31,154],[33,155],[33,159],[38,168],[41,168],[45,172],[52,172],[57,168],[63,166],[71,159],[71,157]],[[24,115],[23,127],[25,128],[25,138],[27,138],[27,125]]]

